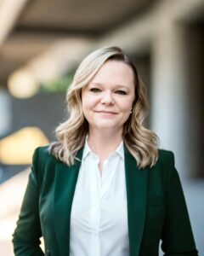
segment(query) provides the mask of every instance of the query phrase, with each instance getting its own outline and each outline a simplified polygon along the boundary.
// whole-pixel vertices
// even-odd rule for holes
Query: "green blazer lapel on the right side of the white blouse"
[[[125,171],[129,250],[130,256],[138,256],[146,214],[148,168],[139,170],[133,156],[125,148]]]

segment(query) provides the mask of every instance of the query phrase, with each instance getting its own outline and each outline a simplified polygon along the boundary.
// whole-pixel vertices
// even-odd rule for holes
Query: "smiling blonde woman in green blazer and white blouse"
[[[14,231],[17,256],[197,255],[173,153],[142,125],[144,87],[117,47],[80,64],[58,142],[37,148]]]

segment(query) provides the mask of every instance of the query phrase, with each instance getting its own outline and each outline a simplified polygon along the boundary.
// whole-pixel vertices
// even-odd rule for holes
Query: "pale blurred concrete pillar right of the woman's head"
[[[153,40],[150,124],[161,139],[160,147],[175,154],[178,172],[181,176],[188,176],[184,42],[184,28],[173,23],[161,26]]]

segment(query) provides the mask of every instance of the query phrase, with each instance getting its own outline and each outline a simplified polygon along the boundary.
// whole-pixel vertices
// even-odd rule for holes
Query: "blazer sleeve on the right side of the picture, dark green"
[[[167,208],[166,218],[161,234],[161,249],[165,256],[198,255],[190,226],[184,192],[174,167],[174,156],[168,158]]]

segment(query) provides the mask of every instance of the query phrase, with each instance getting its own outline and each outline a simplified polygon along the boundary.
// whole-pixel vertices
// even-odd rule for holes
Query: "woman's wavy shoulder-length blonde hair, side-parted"
[[[158,154],[158,137],[142,125],[147,111],[144,84],[133,62],[119,47],[104,47],[88,55],[79,65],[67,95],[69,119],[56,129],[57,143],[51,144],[50,152],[68,166],[74,164],[77,151],[85,144],[88,134],[88,121],[82,112],[82,87],[87,86],[105,61],[122,61],[133,70],[135,99],[129,118],[123,126],[122,139],[127,150],[137,161],[139,168],[154,166]]]

